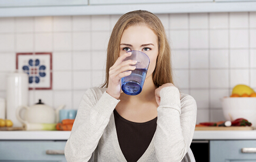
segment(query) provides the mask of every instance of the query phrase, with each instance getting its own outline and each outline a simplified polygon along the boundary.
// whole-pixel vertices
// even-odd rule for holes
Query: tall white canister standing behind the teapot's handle
[[[29,76],[24,72],[14,72],[7,75],[6,89],[6,119],[12,120],[13,127],[22,127],[16,118],[16,109],[28,105]]]

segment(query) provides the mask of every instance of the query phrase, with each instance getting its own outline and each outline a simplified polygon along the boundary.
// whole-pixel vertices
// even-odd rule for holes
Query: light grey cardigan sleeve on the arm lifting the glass
[[[68,162],[89,161],[108,125],[112,111],[120,101],[105,91],[98,100],[99,93],[102,92],[89,89],[82,97],[65,145],[65,157]]]

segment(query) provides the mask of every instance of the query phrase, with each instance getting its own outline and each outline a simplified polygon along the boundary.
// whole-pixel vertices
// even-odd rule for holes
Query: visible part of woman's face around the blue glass
[[[147,54],[150,63],[146,79],[152,77],[158,55],[158,40],[151,28],[146,25],[133,25],[123,31],[119,56],[131,50],[142,51]]]

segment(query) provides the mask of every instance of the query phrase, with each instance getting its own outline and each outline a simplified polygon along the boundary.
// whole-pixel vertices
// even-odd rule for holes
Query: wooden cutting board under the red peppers
[[[196,127],[195,130],[253,130],[253,127],[241,127],[241,126],[231,126],[231,127]]]

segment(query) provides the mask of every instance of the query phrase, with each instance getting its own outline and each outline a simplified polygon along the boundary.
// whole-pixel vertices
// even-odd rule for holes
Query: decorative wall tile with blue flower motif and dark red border
[[[16,53],[16,69],[29,75],[30,89],[52,89],[52,54]]]

